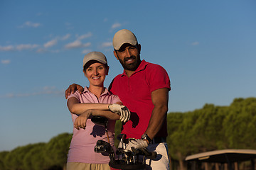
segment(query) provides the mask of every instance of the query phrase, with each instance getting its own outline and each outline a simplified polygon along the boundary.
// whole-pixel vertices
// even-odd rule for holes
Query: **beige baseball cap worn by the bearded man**
[[[119,50],[119,48],[125,43],[129,43],[130,45],[137,45],[138,41],[134,33],[132,33],[130,30],[123,29],[117,31],[113,38],[114,50]]]

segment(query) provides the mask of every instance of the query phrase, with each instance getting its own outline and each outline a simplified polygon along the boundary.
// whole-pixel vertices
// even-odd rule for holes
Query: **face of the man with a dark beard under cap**
[[[139,53],[140,45],[124,44],[118,51],[114,50],[114,56],[122,64],[122,67],[129,71],[135,71],[139,67],[141,62]]]

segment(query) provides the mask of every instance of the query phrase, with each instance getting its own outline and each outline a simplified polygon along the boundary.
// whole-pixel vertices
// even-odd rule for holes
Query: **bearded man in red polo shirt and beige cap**
[[[141,60],[141,45],[130,30],[119,30],[113,38],[114,56],[124,68],[122,74],[112,80],[109,90],[119,96],[124,106],[129,108],[131,117],[122,125],[122,134],[130,140],[126,149],[146,147],[149,152],[157,152],[154,160],[146,160],[151,169],[169,169],[166,144],[166,114],[170,79],[166,70]],[[82,87],[73,84],[66,91],[66,97]]]

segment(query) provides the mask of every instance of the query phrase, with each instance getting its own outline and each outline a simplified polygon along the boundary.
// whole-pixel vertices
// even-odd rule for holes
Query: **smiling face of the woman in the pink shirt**
[[[90,86],[104,86],[104,80],[108,74],[108,67],[100,62],[94,62],[85,69],[85,77],[90,82]]]

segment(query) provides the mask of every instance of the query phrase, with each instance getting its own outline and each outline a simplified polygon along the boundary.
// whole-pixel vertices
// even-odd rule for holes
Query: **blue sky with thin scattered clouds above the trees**
[[[171,78],[169,112],[256,97],[256,1],[0,1],[0,151],[72,132],[65,89],[87,86],[83,56],[100,51],[110,74],[117,30]]]

